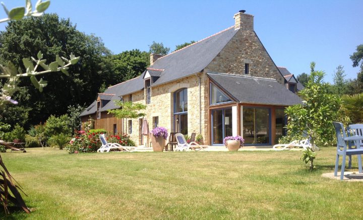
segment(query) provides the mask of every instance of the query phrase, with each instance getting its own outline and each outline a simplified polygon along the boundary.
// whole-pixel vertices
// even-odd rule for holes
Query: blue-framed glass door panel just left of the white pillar
[[[232,108],[212,111],[212,142],[223,144],[226,136],[232,136]]]

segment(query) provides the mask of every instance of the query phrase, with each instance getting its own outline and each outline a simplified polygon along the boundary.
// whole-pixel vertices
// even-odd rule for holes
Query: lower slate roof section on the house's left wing
[[[123,83],[119,83],[114,86],[108,87],[103,94],[113,94],[113,95],[109,96],[109,95],[100,95],[99,94],[99,96],[102,96],[102,97],[100,97],[101,99],[106,98],[104,100],[110,100],[105,106],[103,106],[101,108],[101,112],[118,108],[114,104],[115,100],[120,100],[121,96],[125,96],[128,94],[140,91],[142,89],[144,89],[143,74],[132,80],[125,81]],[[80,117],[85,116],[85,115],[94,114],[94,113],[96,113],[96,111],[97,111],[97,101],[94,101],[84,112],[82,112],[80,114]]]

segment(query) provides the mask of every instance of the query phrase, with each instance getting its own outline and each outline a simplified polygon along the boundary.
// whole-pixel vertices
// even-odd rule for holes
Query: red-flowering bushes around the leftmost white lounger
[[[67,150],[69,154],[77,154],[77,153],[91,153],[97,152],[97,150],[101,147],[101,140],[99,139],[99,135],[104,132],[86,132],[86,131],[78,131],[75,136],[71,139],[67,146]],[[110,135],[106,138],[109,143],[119,143],[123,146],[135,146],[135,143],[130,139],[130,136],[127,134],[124,135]]]

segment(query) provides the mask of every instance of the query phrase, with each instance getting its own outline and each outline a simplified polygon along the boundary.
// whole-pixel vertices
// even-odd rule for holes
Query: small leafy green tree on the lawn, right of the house
[[[336,95],[328,94],[328,84],[323,83],[324,72],[315,71],[312,63],[312,72],[304,90],[298,92],[304,104],[289,106],[285,109],[288,116],[288,135],[296,136],[305,133],[312,143],[332,144],[334,129],[332,121],[338,118],[340,99]],[[314,167],[311,157],[311,169]]]

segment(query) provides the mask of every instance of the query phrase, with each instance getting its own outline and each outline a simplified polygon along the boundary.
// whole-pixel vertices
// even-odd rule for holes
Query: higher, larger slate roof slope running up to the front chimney
[[[203,70],[237,33],[234,26],[218,32],[182,49],[160,57],[149,68],[164,69],[157,86]]]

